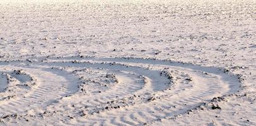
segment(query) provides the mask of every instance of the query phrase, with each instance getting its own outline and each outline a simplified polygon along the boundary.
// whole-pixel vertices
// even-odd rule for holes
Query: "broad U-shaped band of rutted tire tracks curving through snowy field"
[[[8,64],[15,66],[15,62]],[[33,67],[45,67],[45,69],[48,69],[47,72],[50,72],[49,74],[55,75],[57,74],[54,73],[56,71],[54,69],[49,70],[50,67],[74,67],[74,69],[83,69],[84,67],[101,68],[101,71],[117,74],[117,79],[121,80],[115,86],[107,88],[102,93],[92,91],[91,93],[81,95],[76,93],[78,77],[71,75],[67,71],[59,71],[57,76],[62,76],[62,78],[57,76],[44,78],[48,80],[48,84],[42,83],[42,80],[44,80],[42,77],[44,77],[46,71],[40,71],[41,74],[31,72],[33,76],[37,75],[38,80],[40,80],[41,87],[37,88],[39,91],[35,89],[27,98],[21,98],[6,105],[10,111],[6,111],[6,108],[3,108],[3,106],[0,107],[6,113],[22,113],[24,110],[32,108],[40,108],[49,111],[49,113],[51,113],[50,110],[57,110],[59,113],[54,113],[56,116],[52,118],[59,118],[58,116],[61,113],[62,115],[64,113],[67,117],[72,116],[72,118],[75,118],[75,120],[72,118],[70,120],[62,120],[61,123],[66,125],[83,125],[84,123],[143,125],[153,120],[161,120],[161,118],[173,117],[186,112],[202,102],[211,100],[214,96],[234,93],[238,91],[240,85],[235,75],[226,74],[223,72],[223,69],[182,62],[170,62],[168,60],[61,57],[49,58],[44,60],[44,62],[34,61],[28,64],[32,64]],[[3,63],[1,65],[3,66]],[[161,75],[161,71],[172,73],[173,83],[170,83],[170,78]],[[137,81],[132,79],[136,76],[143,76],[143,79],[137,79]],[[56,77],[58,79],[53,79]],[[50,81],[50,79],[52,80]],[[52,83],[54,83],[55,87],[50,89]],[[63,88],[63,90],[58,92],[59,88]],[[40,91],[40,89],[42,90]],[[54,91],[55,96],[47,94],[47,89]],[[49,99],[42,97],[43,93]],[[62,98],[68,94],[74,95],[70,98]],[[141,97],[131,98],[132,96]],[[40,100],[42,98],[44,100]],[[11,106],[18,106],[22,102],[30,103],[32,100],[37,101],[23,110],[10,108]],[[58,102],[50,103],[56,100]],[[119,103],[122,100],[126,100],[127,103],[125,105]],[[107,103],[108,101],[113,101],[113,105],[119,105],[119,107],[105,109],[106,105],[110,105]],[[71,107],[70,105],[73,106]],[[78,116],[79,111],[85,112],[85,116]],[[35,118],[35,120],[37,119]],[[50,118],[45,118],[45,120],[50,122]]]

